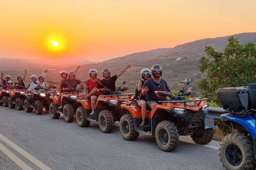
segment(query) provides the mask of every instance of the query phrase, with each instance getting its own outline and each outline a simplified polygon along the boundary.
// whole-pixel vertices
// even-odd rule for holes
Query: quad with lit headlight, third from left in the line
[[[24,108],[26,112],[32,112],[35,108],[37,115],[43,114],[43,108],[49,111],[50,103],[52,99],[50,96],[54,95],[57,90],[51,89],[57,88],[56,86],[50,86],[49,88],[35,87],[35,90],[31,94],[26,94],[27,99],[24,101]]]

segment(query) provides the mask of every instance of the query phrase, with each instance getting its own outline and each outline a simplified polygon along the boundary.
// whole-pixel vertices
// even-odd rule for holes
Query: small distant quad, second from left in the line
[[[9,90],[10,97],[8,97],[8,106],[10,108],[17,107],[17,109],[21,111],[23,109],[24,100],[26,99],[25,94],[26,94],[27,88],[23,86],[16,86],[16,84],[18,83],[14,83],[14,84],[15,84],[14,85],[15,89]]]

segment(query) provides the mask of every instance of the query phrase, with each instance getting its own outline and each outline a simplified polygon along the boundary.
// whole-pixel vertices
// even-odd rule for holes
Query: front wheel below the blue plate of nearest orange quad
[[[199,145],[206,145],[207,143],[211,142],[212,137],[213,137],[213,128],[204,129],[204,126],[202,126],[193,135],[191,135],[191,138],[193,139],[193,141]]]

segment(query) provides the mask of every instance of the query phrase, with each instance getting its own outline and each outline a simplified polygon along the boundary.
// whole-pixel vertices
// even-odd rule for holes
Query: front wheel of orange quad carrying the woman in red
[[[99,126],[100,130],[104,133],[109,133],[114,128],[114,118],[111,112],[103,110],[99,114]]]

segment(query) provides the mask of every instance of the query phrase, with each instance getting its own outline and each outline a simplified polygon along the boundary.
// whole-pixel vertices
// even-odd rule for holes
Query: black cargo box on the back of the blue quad
[[[223,109],[233,112],[248,110],[248,94],[246,87],[219,88],[217,95]]]

